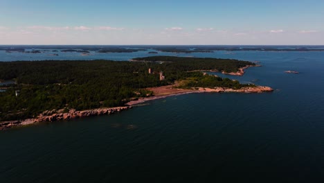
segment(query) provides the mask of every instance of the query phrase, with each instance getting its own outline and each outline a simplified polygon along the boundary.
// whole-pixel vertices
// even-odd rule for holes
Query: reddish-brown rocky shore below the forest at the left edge
[[[30,125],[33,123],[41,123],[41,122],[53,122],[53,121],[66,121],[71,119],[79,119],[87,116],[101,116],[101,115],[109,115],[114,114],[116,112],[120,112],[123,110],[128,110],[132,108],[132,106],[126,107],[109,107],[109,108],[100,108],[94,110],[83,110],[76,111],[74,109],[69,110],[69,112],[63,112],[64,110],[52,110],[45,111],[42,114],[39,114],[34,119],[24,119],[24,120],[15,120],[15,121],[2,121],[0,122],[0,130],[6,130],[7,128],[12,128],[15,126],[21,125]]]

